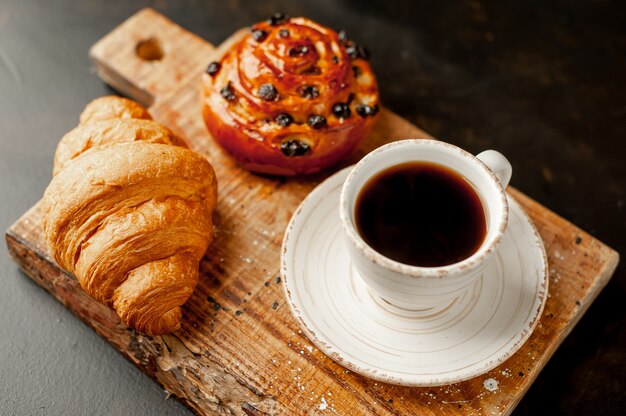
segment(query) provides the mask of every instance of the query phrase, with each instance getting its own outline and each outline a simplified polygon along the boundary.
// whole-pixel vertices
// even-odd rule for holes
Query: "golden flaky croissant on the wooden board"
[[[43,197],[57,263],[149,335],[177,330],[212,239],[209,162],[139,104],[91,102],[61,139]]]

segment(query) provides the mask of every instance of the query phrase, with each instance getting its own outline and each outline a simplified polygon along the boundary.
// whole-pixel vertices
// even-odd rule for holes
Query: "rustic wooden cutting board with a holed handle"
[[[204,128],[199,97],[200,74],[212,50],[210,43],[144,9],[90,52],[103,80],[150,106],[154,118],[185,137],[218,175],[216,239],[201,263],[200,283],[184,308],[182,329],[145,336],[126,328],[112,310],[92,300],[51,259],[40,204],[6,235],[9,250],[24,271],[198,414],[511,413],[606,285],[618,254],[509,188],[537,226],[549,256],[548,301],[529,341],[495,370],[450,386],[398,387],[351,373],[303,336],[278,278],[280,245],[289,218],[332,172],[296,179],[254,175],[217,146]],[[162,56],[147,60],[139,55]],[[383,143],[408,137],[429,136],[383,110],[375,131],[345,165]]]

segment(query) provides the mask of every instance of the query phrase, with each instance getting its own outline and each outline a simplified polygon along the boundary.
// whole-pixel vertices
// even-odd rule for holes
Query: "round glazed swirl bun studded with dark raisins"
[[[371,130],[378,87],[368,52],[309,19],[274,15],[233,35],[203,75],[203,116],[245,168],[308,174]]]

